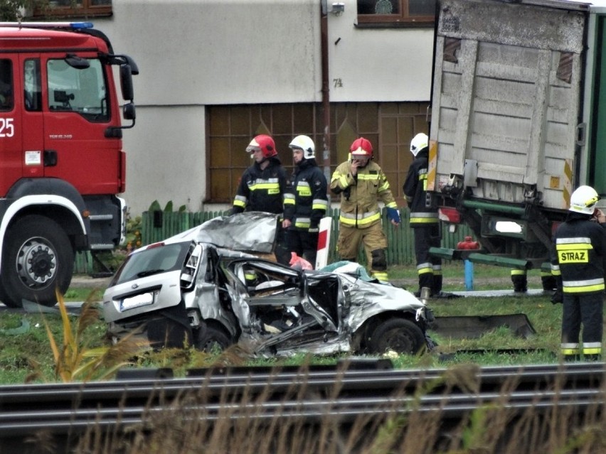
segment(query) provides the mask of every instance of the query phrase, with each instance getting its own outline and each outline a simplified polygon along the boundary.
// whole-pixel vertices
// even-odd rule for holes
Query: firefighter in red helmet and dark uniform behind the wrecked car
[[[255,163],[247,168],[240,178],[232,213],[270,212],[280,215],[281,222],[288,178],[277,156],[274,139],[265,134],[255,136],[246,147],[246,152],[250,153]],[[290,261],[285,237],[285,229],[280,225],[276,232],[275,256],[281,264],[288,264]]]

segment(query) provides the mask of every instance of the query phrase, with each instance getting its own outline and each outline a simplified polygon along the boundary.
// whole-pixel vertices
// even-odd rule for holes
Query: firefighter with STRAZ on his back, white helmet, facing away
[[[597,200],[590,186],[576,189],[568,217],[553,235],[551,272],[563,294],[560,352],[568,361],[580,359],[581,324],[583,357],[600,360],[602,356],[606,216],[595,208]]]

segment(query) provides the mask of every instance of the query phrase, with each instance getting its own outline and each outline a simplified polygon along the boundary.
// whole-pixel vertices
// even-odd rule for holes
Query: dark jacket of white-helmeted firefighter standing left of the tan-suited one
[[[284,198],[284,218],[291,228],[317,232],[328,209],[326,177],[314,158],[303,159],[292,173]]]

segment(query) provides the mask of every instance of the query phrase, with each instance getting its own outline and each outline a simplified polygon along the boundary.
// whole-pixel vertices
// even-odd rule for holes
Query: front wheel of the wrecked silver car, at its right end
[[[368,342],[369,350],[378,354],[393,350],[415,355],[424,345],[425,335],[421,328],[403,318],[391,318],[378,325]]]

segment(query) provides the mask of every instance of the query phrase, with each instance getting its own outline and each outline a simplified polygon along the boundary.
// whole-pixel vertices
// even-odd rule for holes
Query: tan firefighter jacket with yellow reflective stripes
[[[381,198],[388,208],[397,208],[389,188],[389,182],[381,167],[369,161],[351,175],[351,163],[339,164],[331,177],[331,191],[341,196],[339,222],[347,227],[365,229],[381,222],[381,210],[377,199]]]

